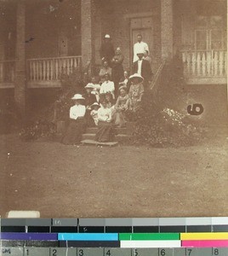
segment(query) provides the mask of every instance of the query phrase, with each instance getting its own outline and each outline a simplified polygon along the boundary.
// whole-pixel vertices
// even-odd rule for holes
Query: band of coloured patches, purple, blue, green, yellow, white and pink
[[[2,241],[57,241],[60,247],[228,247],[228,233],[14,233]]]

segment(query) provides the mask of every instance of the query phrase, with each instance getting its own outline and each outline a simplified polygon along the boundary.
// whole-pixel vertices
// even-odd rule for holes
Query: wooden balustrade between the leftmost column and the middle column
[[[58,81],[63,74],[73,73],[81,67],[81,56],[66,56],[27,60],[29,81]]]

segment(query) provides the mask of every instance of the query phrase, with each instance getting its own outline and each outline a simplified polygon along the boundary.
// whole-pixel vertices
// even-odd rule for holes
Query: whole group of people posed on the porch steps
[[[100,57],[103,67],[99,79],[91,79],[85,86],[83,95],[76,94],[71,99],[74,106],[70,109],[70,123],[62,143],[81,142],[86,127],[97,126],[95,140],[104,143],[114,140],[115,127],[124,127],[128,113],[140,108],[140,102],[151,81],[151,63],[148,45],[142,42],[134,44],[133,73],[123,71],[123,54],[118,47],[114,51],[109,35],[101,45]]]

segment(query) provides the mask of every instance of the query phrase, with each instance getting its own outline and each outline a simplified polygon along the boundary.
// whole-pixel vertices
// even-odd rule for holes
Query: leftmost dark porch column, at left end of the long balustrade
[[[22,117],[26,113],[26,2],[17,1],[16,14],[16,63],[14,100]]]

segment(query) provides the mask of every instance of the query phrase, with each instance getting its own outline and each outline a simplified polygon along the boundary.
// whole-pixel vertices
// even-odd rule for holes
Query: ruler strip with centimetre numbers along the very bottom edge
[[[228,247],[220,248],[37,248],[2,247],[5,256],[227,256]]]

